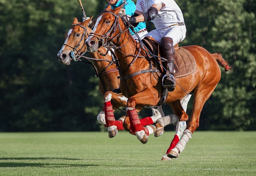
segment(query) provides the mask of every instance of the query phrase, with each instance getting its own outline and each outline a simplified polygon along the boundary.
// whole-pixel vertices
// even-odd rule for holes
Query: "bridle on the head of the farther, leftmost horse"
[[[81,28],[83,28],[83,34],[82,37],[80,39],[80,41],[78,42],[78,44],[75,47],[72,47],[70,45],[67,45],[66,43],[63,43],[63,45],[66,45],[70,48],[72,48],[73,50],[71,51],[71,57],[72,59],[74,59],[74,61],[78,61],[78,53],[81,52],[81,50],[85,47],[85,41],[83,42],[83,46],[81,47],[81,49],[77,50],[77,48],[80,46],[80,43],[82,42],[82,40],[85,38],[85,35],[87,34],[87,36],[89,36],[88,32],[87,32],[87,28],[80,25],[80,24],[73,24],[72,26],[80,26]],[[86,38],[84,39],[86,40]],[[85,49],[84,49],[85,50]],[[80,54],[81,56],[84,55],[87,51],[85,50],[82,54]]]

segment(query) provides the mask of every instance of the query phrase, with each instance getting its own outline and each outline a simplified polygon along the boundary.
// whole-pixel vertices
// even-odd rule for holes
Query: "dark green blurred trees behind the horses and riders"
[[[234,68],[221,68],[200,129],[255,130],[255,1],[176,2],[187,26],[180,45],[221,52]],[[87,16],[96,17],[107,1],[82,3]],[[0,0],[0,13],[0,131],[99,130],[102,96],[93,69],[60,65],[56,57],[74,17],[81,19],[79,1]]]

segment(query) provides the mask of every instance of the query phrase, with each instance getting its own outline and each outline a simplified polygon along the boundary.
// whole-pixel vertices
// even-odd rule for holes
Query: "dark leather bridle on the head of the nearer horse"
[[[101,35],[101,34],[97,34],[97,33],[92,32],[92,33],[90,33],[90,35],[96,37],[99,40],[99,43],[102,43],[103,47],[114,48],[114,49],[121,48],[121,47],[117,47],[116,45],[114,45],[114,43],[112,41],[115,40],[119,36],[119,40],[117,42],[117,45],[118,45],[118,43],[120,42],[120,34],[123,34],[127,30],[129,30],[129,28],[122,31],[122,29],[120,27],[120,24],[119,24],[119,16],[118,15],[116,15],[116,14],[110,12],[110,11],[102,11],[101,13],[110,13],[110,14],[114,15],[115,16],[115,21],[113,22],[112,26],[110,27],[110,29],[108,30],[108,32],[106,34]],[[113,36],[117,27],[119,28],[120,33],[117,34],[116,36]],[[95,35],[97,35],[97,36],[95,36]]]

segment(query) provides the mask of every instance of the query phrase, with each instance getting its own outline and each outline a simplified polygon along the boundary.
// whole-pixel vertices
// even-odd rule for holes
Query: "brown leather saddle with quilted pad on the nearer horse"
[[[148,50],[157,56],[162,56],[160,49],[161,43],[157,42],[153,37],[146,36],[142,39]],[[176,59],[174,61],[174,77],[183,77],[191,74],[196,69],[196,61],[194,56],[185,48],[174,46]],[[163,71],[163,70],[162,70]]]

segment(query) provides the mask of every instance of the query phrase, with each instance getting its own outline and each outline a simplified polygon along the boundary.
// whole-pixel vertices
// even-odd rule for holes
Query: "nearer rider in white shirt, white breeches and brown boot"
[[[132,17],[127,17],[131,24],[143,21],[154,23],[156,29],[145,36],[152,36],[156,41],[161,42],[167,59],[165,63],[170,73],[164,77],[163,87],[173,91],[175,87],[174,45],[184,40],[187,31],[180,7],[174,0],[137,0],[134,14]]]

